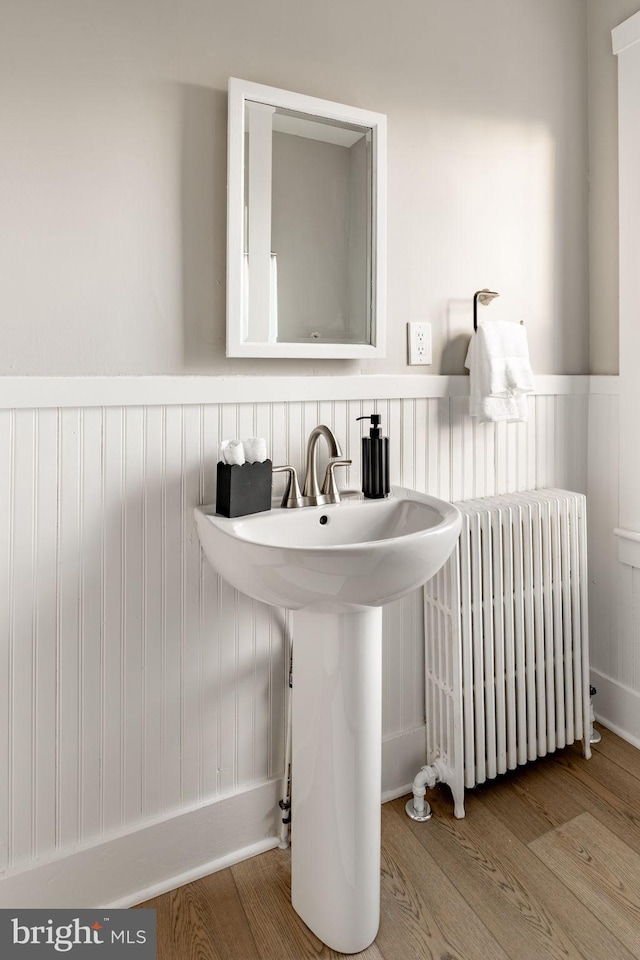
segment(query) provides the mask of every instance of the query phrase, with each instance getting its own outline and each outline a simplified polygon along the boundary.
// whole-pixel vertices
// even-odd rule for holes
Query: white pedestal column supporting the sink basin
[[[357,953],[380,918],[382,608],[292,614],[291,900]]]

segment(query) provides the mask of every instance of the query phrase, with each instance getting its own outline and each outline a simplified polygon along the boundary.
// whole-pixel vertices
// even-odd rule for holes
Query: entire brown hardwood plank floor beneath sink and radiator
[[[414,823],[382,810],[382,910],[363,960],[640,960],[640,751],[607,730],[469,791]],[[272,850],[140,904],[158,960],[325,960]]]

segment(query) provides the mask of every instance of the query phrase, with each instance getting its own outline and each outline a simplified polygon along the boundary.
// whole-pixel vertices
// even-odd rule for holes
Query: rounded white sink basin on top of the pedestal
[[[429,580],[460,532],[444,500],[393,487],[384,500],[340,503],[228,519],[196,507],[211,565],[243,593],[298,610],[382,606]]]

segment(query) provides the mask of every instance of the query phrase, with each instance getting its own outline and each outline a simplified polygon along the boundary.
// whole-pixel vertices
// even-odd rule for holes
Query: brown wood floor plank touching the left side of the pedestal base
[[[291,906],[290,851],[269,850],[260,857],[236,864],[231,872],[257,944],[253,956],[261,960],[344,957],[321,943]],[[284,944],[287,953],[283,953]],[[354,956],[362,960],[384,960],[375,943]]]

